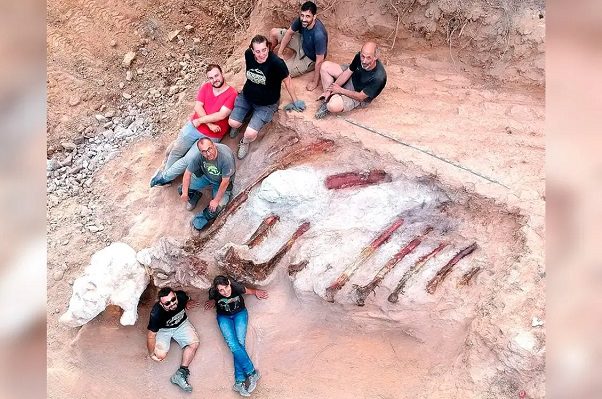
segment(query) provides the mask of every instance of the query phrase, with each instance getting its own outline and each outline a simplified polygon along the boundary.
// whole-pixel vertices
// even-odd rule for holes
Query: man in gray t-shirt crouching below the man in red
[[[180,186],[180,196],[186,209],[193,210],[201,198],[201,190],[211,186],[213,198],[202,212],[195,215],[192,225],[201,230],[226,207],[232,198],[236,164],[234,153],[225,144],[207,138],[197,142],[200,154],[190,161]]]

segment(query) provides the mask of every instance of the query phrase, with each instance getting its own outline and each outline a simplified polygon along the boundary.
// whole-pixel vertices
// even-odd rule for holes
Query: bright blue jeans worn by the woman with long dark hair
[[[222,331],[226,344],[234,356],[234,381],[244,382],[245,379],[255,372],[253,362],[245,349],[245,337],[247,336],[247,322],[249,313],[247,309],[232,315],[217,315],[217,324]]]

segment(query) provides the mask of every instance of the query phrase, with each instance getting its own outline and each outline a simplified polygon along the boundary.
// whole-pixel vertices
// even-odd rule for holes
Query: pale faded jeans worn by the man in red
[[[165,167],[163,168],[164,182],[170,182],[184,173],[188,163],[200,154],[199,148],[195,144],[203,137],[207,136],[199,132],[191,121],[188,121],[184,125],[165,162]],[[207,138],[214,143],[220,142],[220,139]]]

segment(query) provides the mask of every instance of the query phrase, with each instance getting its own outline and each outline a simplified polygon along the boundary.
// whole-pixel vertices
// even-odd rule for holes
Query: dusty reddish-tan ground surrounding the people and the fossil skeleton
[[[375,308],[298,295],[279,269],[263,287],[270,291],[270,299],[248,301],[247,342],[264,375],[254,396],[508,398],[518,397],[521,390],[527,397],[544,396],[544,329],[531,327],[532,317],[545,317],[543,10],[536,2],[529,3],[513,14],[515,25],[503,18],[488,25],[496,12],[507,17],[508,10],[516,8],[513,3],[492,3],[498,8],[481,7],[482,12],[477,10],[470,18],[467,12],[458,12],[457,5],[454,9],[453,2],[406,3],[371,2],[364,12],[349,2],[324,5],[332,32],[329,58],[349,62],[368,37],[391,43],[399,14],[395,48],[384,54],[387,88],[369,110],[346,117],[449,162],[340,118],[314,120],[313,99],[319,91],[305,91],[307,77],[294,80],[294,85],[308,110],[279,112],[270,136],[258,146],[273,145],[273,137],[284,131],[328,137],[348,148],[336,154],[342,164],[353,164],[352,149],[361,149],[388,165],[398,163],[409,177],[431,176],[459,204],[455,216],[480,226],[472,234],[491,248],[497,242],[505,249],[491,256],[491,272],[477,278],[477,287],[483,289],[473,289],[470,299],[475,303],[467,305],[470,312],[456,312],[455,304],[437,297],[429,322],[460,320],[453,334],[437,339],[412,336],[408,326],[402,329],[403,323],[387,321],[386,314]],[[395,4],[398,11],[388,4]],[[120,312],[115,308],[80,329],[61,326],[58,318],[66,309],[70,284],[98,249],[124,241],[140,250],[162,236],[186,239],[192,234],[191,214],[179,202],[175,188],[149,189],[148,180],[189,112],[203,81],[202,64],[223,62],[233,53],[227,71],[240,88],[243,40],[294,15],[294,8],[291,12],[291,5],[281,2],[260,1],[250,15],[249,7],[228,2],[218,9],[188,1],[129,1],[111,7],[96,1],[49,2],[49,159],[65,161],[69,156],[61,145],[65,141],[74,142],[84,154],[94,145],[92,159],[104,151],[105,144],[111,144],[107,152],[112,153],[89,168],[81,182],[71,183],[69,177],[63,179],[65,185],[57,182],[52,187],[58,173],[69,175],[73,166],[49,172],[49,397],[184,396],[168,382],[179,350],[160,365],[146,356],[152,293],[141,302],[139,321],[133,327],[119,325]],[[215,20],[223,24],[210,25]],[[193,29],[186,30],[187,24]],[[228,33],[232,42],[206,41],[228,24],[237,26],[235,35]],[[498,33],[493,27],[502,30]],[[175,30],[181,32],[168,41]],[[491,37],[499,37],[499,43]],[[130,50],[137,52],[137,58],[131,68],[125,68],[123,55]],[[457,51],[454,59],[450,51]],[[126,76],[128,70],[131,76]],[[287,101],[285,93],[283,101]],[[108,111],[114,115],[95,118]],[[134,125],[139,121],[136,134],[119,143],[100,134],[106,129],[117,131],[127,117],[136,120]],[[225,142],[234,148],[232,140]],[[242,171],[260,165],[262,154],[254,148],[239,162],[237,189],[252,179],[252,173]],[[468,231],[463,234],[471,236]],[[213,275],[216,266],[210,267]],[[203,299],[206,293],[193,295]],[[409,310],[418,315],[415,326],[426,324],[420,308]],[[231,358],[213,315],[198,310],[191,312],[191,319],[201,336],[201,349],[191,367],[192,396],[236,397],[230,388]],[[514,339],[525,336],[535,343],[516,346]]]

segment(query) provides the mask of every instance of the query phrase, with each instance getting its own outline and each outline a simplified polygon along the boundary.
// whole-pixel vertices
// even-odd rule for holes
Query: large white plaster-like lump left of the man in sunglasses
[[[138,301],[148,285],[144,266],[136,251],[115,242],[92,255],[84,275],[73,282],[69,308],[60,321],[70,327],[81,326],[102,312],[107,305],[123,309],[120,323],[133,325],[138,318]]]

